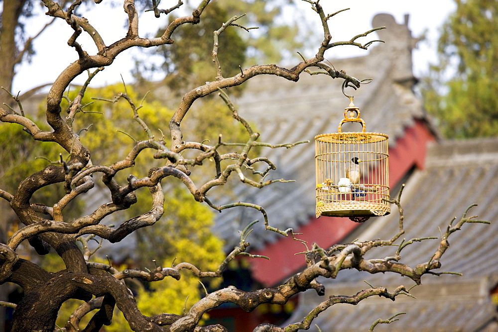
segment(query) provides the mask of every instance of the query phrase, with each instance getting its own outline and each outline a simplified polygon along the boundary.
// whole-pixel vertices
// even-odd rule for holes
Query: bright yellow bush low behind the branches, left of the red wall
[[[214,271],[224,259],[223,243],[210,231],[213,212],[195,202],[191,195],[180,188],[172,190],[165,205],[167,215],[154,226],[138,230],[136,254],[140,262],[152,269],[152,259],[162,267],[169,267],[173,261],[189,262],[202,271]],[[148,264],[147,264],[148,261]],[[206,287],[216,286],[221,280],[205,278]],[[199,279],[189,270],[182,270],[180,280],[165,278],[152,282],[149,289],[139,289],[137,305],[145,316],[161,313],[181,315],[183,309],[200,300],[204,290]],[[187,300],[188,298],[188,300]],[[115,311],[113,325],[107,331],[129,331],[121,312]]]

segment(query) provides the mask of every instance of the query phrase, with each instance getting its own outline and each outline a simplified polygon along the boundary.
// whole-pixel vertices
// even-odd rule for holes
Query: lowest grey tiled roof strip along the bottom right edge
[[[349,292],[354,295],[368,286],[339,288],[337,292]],[[397,313],[406,313],[397,317],[391,324],[379,324],[374,331],[476,331],[487,326],[490,318],[496,315],[495,307],[479,294],[482,280],[467,280],[455,284],[430,284],[425,292],[413,289],[417,299],[399,296],[395,302],[385,298],[371,297],[358,305],[334,305],[313,321],[309,331],[368,331],[373,322],[379,318],[388,319]],[[388,286],[392,291],[396,286]],[[467,292],[464,293],[463,291]],[[335,292],[334,294],[339,294]],[[430,293],[429,293],[430,292]],[[444,299],[438,298],[445,293]],[[424,294],[425,293],[425,294]],[[429,294],[428,294],[429,293]],[[327,294],[328,295],[328,294]],[[386,303],[388,302],[388,303]],[[307,307],[309,312],[313,308]],[[304,310],[301,309],[301,313]],[[325,315],[325,316],[323,316]],[[315,326],[316,324],[316,326]],[[495,328],[497,326],[495,325]],[[489,330],[493,331],[493,330]],[[496,331],[496,330],[494,330]]]

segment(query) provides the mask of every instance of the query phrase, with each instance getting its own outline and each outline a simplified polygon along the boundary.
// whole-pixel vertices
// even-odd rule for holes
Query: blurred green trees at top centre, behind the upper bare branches
[[[239,66],[258,63],[278,63],[289,60],[290,54],[305,47],[305,33],[299,30],[299,13],[292,0],[273,2],[263,0],[219,0],[205,9],[206,19],[189,24],[173,35],[175,43],[160,46],[152,54],[161,58],[159,68],[148,62],[136,61],[135,77],[146,84],[147,74],[165,73],[165,83],[173,93],[178,87],[193,88],[216,77],[211,52],[213,33],[233,16],[244,16],[237,20],[240,28],[226,29],[219,37],[218,58],[223,64],[223,74],[236,75]],[[283,17],[283,8],[291,9],[293,15]],[[176,17],[171,15],[171,22]],[[257,27],[257,29],[255,29]],[[157,36],[164,33],[159,29]],[[233,89],[232,89],[233,90]]]

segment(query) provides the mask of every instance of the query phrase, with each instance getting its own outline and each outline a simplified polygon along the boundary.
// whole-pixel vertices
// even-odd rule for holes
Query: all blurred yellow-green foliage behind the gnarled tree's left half
[[[94,165],[112,164],[123,160],[127,153],[132,149],[133,140],[117,132],[122,130],[136,140],[146,140],[148,137],[143,128],[133,120],[133,113],[129,104],[124,99],[116,103],[102,100],[92,100],[89,96],[113,100],[119,93],[123,92],[122,84],[110,85],[103,88],[88,88],[82,104],[88,104],[83,108],[84,112],[76,114],[73,128],[79,133],[82,144],[88,148],[91,153],[91,159]],[[70,92],[69,97],[73,99],[77,92]],[[127,86],[127,93],[140,106],[142,96],[137,96],[134,90]],[[63,114],[68,103],[62,103]],[[98,112],[98,113],[97,113]],[[203,141],[210,140],[215,144],[218,135],[223,133],[225,142],[242,142],[248,139],[242,125],[232,119],[231,112],[223,101],[212,99],[209,102],[196,105],[195,112],[189,113],[192,125],[185,125],[184,140]],[[168,138],[168,122],[173,111],[164,107],[159,101],[147,101],[142,103],[138,110],[140,118],[148,125],[156,138],[161,137],[161,129]],[[232,126],[227,123],[234,124]],[[92,125],[91,127],[89,127]],[[182,125],[183,127],[183,125]],[[82,129],[88,128],[87,131]],[[230,128],[227,132],[227,128]],[[223,131],[225,130],[225,131]],[[192,134],[193,133],[193,134]],[[167,144],[167,142],[166,142]],[[209,143],[207,143],[209,144]],[[3,161],[0,169],[2,188],[13,188],[23,178],[35,171],[43,169],[49,164],[45,159],[35,159],[34,157],[44,157],[52,161],[57,161],[59,153],[67,158],[67,152],[62,150],[57,144],[45,142],[33,142],[29,134],[22,131],[18,125],[0,126],[0,157]],[[227,147],[227,151],[234,151],[237,148]],[[143,151],[136,159],[136,165],[130,169],[124,170],[123,174],[117,177],[121,183],[125,183],[125,178],[132,173],[137,177],[146,176],[148,170],[154,166],[164,165],[164,160],[155,160],[152,158],[154,150]],[[214,163],[205,162],[202,167],[193,168],[196,178],[212,178],[215,174]],[[209,169],[209,170],[207,170]],[[15,171],[14,171],[15,170]],[[202,171],[201,171],[202,170]],[[197,176],[198,175],[198,176]],[[96,183],[99,184],[99,177],[94,175]],[[5,184],[8,184],[5,186]],[[56,187],[57,192],[54,194]],[[183,184],[173,177],[167,177],[163,180],[163,189],[165,190],[165,213],[163,217],[153,226],[140,229],[136,232],[137,248],[134,250],[136,262],[133,268],[149,269],[154,268],[152,259],[155,259],[158,265],[169,267],[175,261],[176,263],[185,261],[194,264],[202,271],[214,271],[224,259],[223,243],[220,239],[211,233],[214,213],[205,204],[194,201],[192,195],[185,190]],[[96,190],[96,189],[92,189]],[[104,189],[106,190],[106,189]],[[36,202],[53,204],[54,199],[59,199],[63,195],[62,183],[50,186],[46,189],[46,195],[42,196],[37,193]],[[138,203],[125,211],[126,218],[131,218],[146,212],[151,206],[150,192],[142,188],[137,192]],[[41,192],[43,194],[43,192]],[[87,195],[92,194],[90,192]],[[71,218],[78,212],[81,212],[85,194],[77,199],[77,208],[66,210],[73,211]],[[65,219],[69,220],[69,213],[64,211]],[[126,241],[126,239],[124,240]],[[97,252],[98,254],[98,252]],[[92,257],[94,261],[107,263],[99,257]],[[64,264],[56,254],[44,256],[43,267],[48,271],[59,271],[64,269]],[[116,267],[116,266],[115,266]],[[119,267],[124,269],[125,267]],[[202,280],[207,286],[214,287],[221,280]],[[181,272],[179,281],[167,277],[158,282],[152,282],[144,285],[146,287],[137,287],[136,282],[131,283],[138,293],[137,304],[144,315],[156,315],[160,313],[182,314],[186,305],[188,310],[196,303],[204,293],[198,278],[192,275],[188,270]],[[188,297],[188,301],[186,299]],[[79,306],[82,301],[66,301],[59,311],[57,325],[64,326],[69,315]],[[87,315],[80,327],[91,318],[94,313]],[[115,311],[113,324],[106,327],[106,331],[125,331],[128,329],[127,323],[119,310]]]

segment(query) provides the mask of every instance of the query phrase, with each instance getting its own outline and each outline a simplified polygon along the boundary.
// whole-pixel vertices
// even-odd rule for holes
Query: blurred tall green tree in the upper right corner
[[[498,132],[498,2],[456,0],[444,23],[439,63],[424,79],[428,112],[448,138]]]

